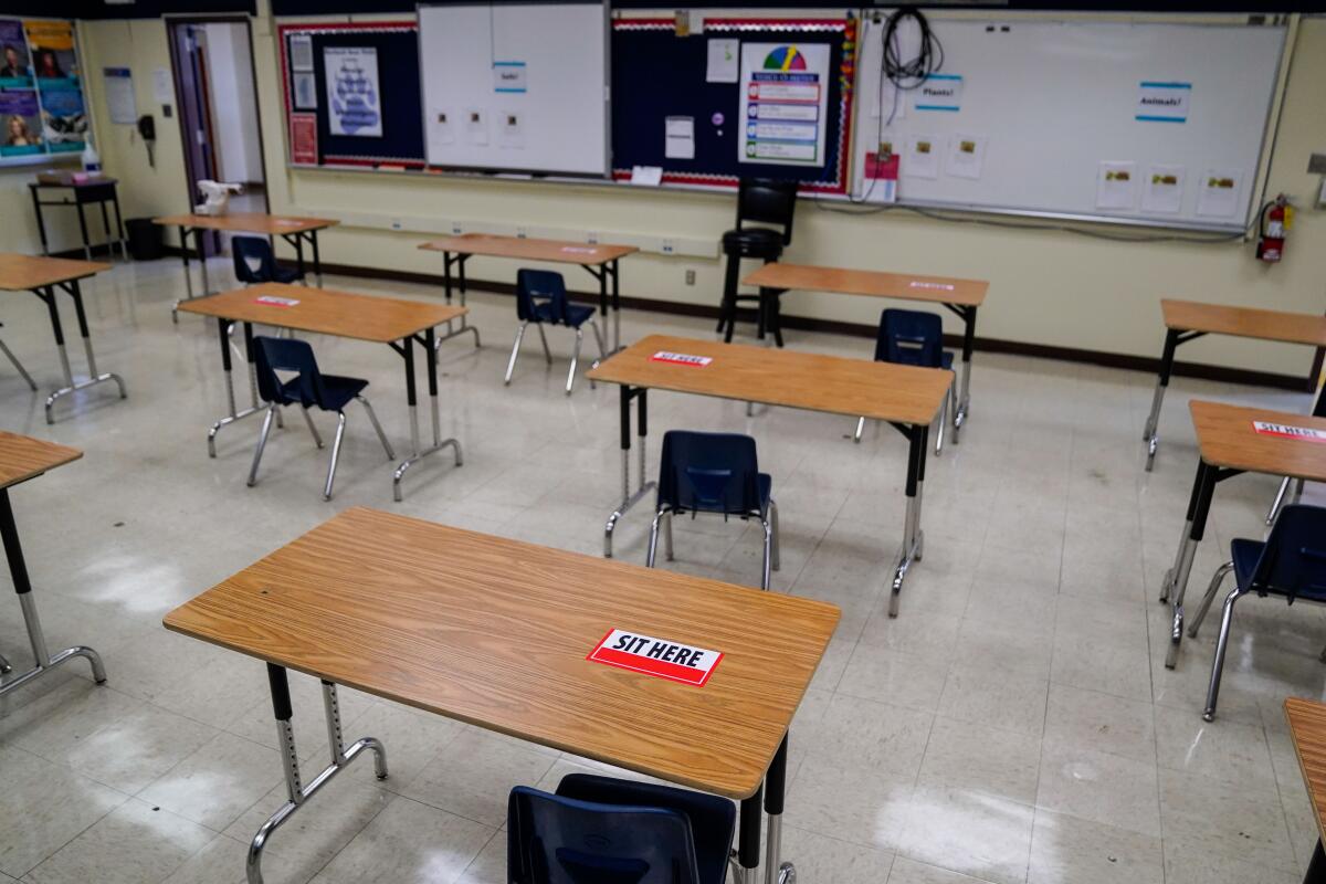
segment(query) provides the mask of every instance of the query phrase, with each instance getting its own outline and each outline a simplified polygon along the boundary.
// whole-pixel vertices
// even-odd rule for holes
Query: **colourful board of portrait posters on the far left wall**
[[[88,121],[73,23],[0,19],[0,166],[81,154]]]

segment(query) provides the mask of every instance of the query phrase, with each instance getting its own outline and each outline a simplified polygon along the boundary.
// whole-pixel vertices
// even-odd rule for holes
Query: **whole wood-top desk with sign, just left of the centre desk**
[[[293,304],[264,304],[259,298],[278,298]],[[235,289],[206,298],[194,298],[179,305],[186,313],[215,317],[221,342],[221,367],[225,370],[225,392],[229,414],[207,433],[207,453],[216,457],[216,433],[221,427],[259,414],[263,408],[257,398],[257,372],[253,353],[253,326],[265,325],[293,331],[312,331],[337,338],[353,338],[385,343],[395,350],[406,363],[406,402],[410,404],[411,456],[400,461],[392,473],[392,494],[400,500],[400,480],[415,463],[443,448],[456,452],[456,467],[463,463],[460,443],[442,437],[442,416],[438,411],[438,349],[436,326],[463,317],[465,307],[399,298],[381,298],[347,292],[310,289],[302,285],[264,282],[247,289]],[[229,327],[244,323],[244,349],[249,363],[249,395],[252,404],[244,411],[235,408],[235,384],[231,378]],[[424,350],[428,372],[428,398],[432,408],[432,445],[419,448],[419,408],[415,394],[414,345]]]

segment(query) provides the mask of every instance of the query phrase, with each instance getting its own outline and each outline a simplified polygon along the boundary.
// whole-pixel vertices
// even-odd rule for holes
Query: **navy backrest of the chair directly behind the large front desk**
[[[754,439],[670,429],[663,435],[658,500],[675,510],[760,513]]]

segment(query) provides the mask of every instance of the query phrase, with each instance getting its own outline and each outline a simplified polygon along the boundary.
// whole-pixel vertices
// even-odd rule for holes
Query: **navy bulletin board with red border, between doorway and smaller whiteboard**
[[[424,167],[416,23],[286,24],[277,33],[290,166]]]

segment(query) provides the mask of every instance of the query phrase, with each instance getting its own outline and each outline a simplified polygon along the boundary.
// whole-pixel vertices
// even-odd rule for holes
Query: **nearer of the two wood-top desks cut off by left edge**
[[[37,616],[37,603],[32,598],[32,582],[28,579],[28,566],[23,559],[23,546],[19,543],[19,529],[13,521],[13,506],[9,504],[9,486],[36,478],[49,469],[64,467],[82,457],[77,448],[30,436],[17,436],[0,431],[0,539],[4,542],[5,557],[9,559],[9,575],[13,590],[23,608],[23,622],[28,627],[28,641],[32,645],[33,668],[23,675],[13,675],[13,667],[0,657],[0,697],[11,691],[50,672],[73,657],[85,657],[91,664],[91,675],[97,684],[106,680],[106,669],[101,657],[88,647],[76,645],[52,656],[46,649],[46,636],[41,631]],[[11,677],[12,676],[12,677]]]

